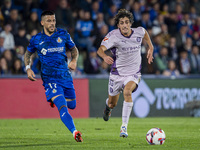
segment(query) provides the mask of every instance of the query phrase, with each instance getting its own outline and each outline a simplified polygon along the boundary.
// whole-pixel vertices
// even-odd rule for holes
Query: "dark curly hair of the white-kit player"
[[[117,15],[115,16],[115,25],[117,25],[119,23],[119,19],[120,18],[124,18],[124,17],[127,17],[130,21],[130,23],[132,24],[134,21],[133,21],[133,14],[126,10],[126,9],[120,9],[117,13]]]

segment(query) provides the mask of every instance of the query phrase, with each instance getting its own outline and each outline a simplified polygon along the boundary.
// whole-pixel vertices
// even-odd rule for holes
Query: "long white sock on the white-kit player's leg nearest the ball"
[[[124,101],[122,108],[122,125],[125,125],[126,127],[129,121],[129,117],[131,115],[132,108],[133,108],[133,102]]]

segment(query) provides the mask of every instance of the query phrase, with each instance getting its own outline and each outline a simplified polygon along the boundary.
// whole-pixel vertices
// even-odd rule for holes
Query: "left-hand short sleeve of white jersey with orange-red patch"
[[[112,34],[112,31],[109,32],[105,38],[102,40],[101,45],[105,46],[107,49],[110,49],[112,47],[114,47],[114,35]]]

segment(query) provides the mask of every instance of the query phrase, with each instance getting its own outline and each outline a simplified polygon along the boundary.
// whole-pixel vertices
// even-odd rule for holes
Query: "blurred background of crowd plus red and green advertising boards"
[[[38,81],[27,79],[23,62],[31,36],[42,29],[40,14],[47,9],[55,11],[57,27],[69,31],[80,51],[72,72],[78,103],[70,113],[74,118],[102,117],[110,66],[96,51],[116,28],[113,16],[120,8],[133,13],[133,27],[144,27],[154,45],[151,65],[146,61],[148,47],[142,45],[143,76],[133,94],[132,117],[199,117],[199,0],[1,0],[0,118],[59,117],[46,103],[37,55],[32,69]],[[67,55],[70,61],[69,51]],[[112,116],[121,116],[122,100]]]

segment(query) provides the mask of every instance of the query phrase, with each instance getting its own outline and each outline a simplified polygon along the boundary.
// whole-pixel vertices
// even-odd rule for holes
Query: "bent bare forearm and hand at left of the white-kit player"
[[[101,58],[103,58],[103,60],[104,60],[107,64],[111,65],[111,64],[113,64],[114,60],[112,59],[112,57],[110,57],[110,56],[108,56],[108,55],[106,55],[106,54],[104,53],[104,51],[106,51],[106,50],[107,50],[107,48],[106,48],[105,46],[101,45],[101,46],[99,47],[98,51],[97,51],[97,54],[98,54]]]

